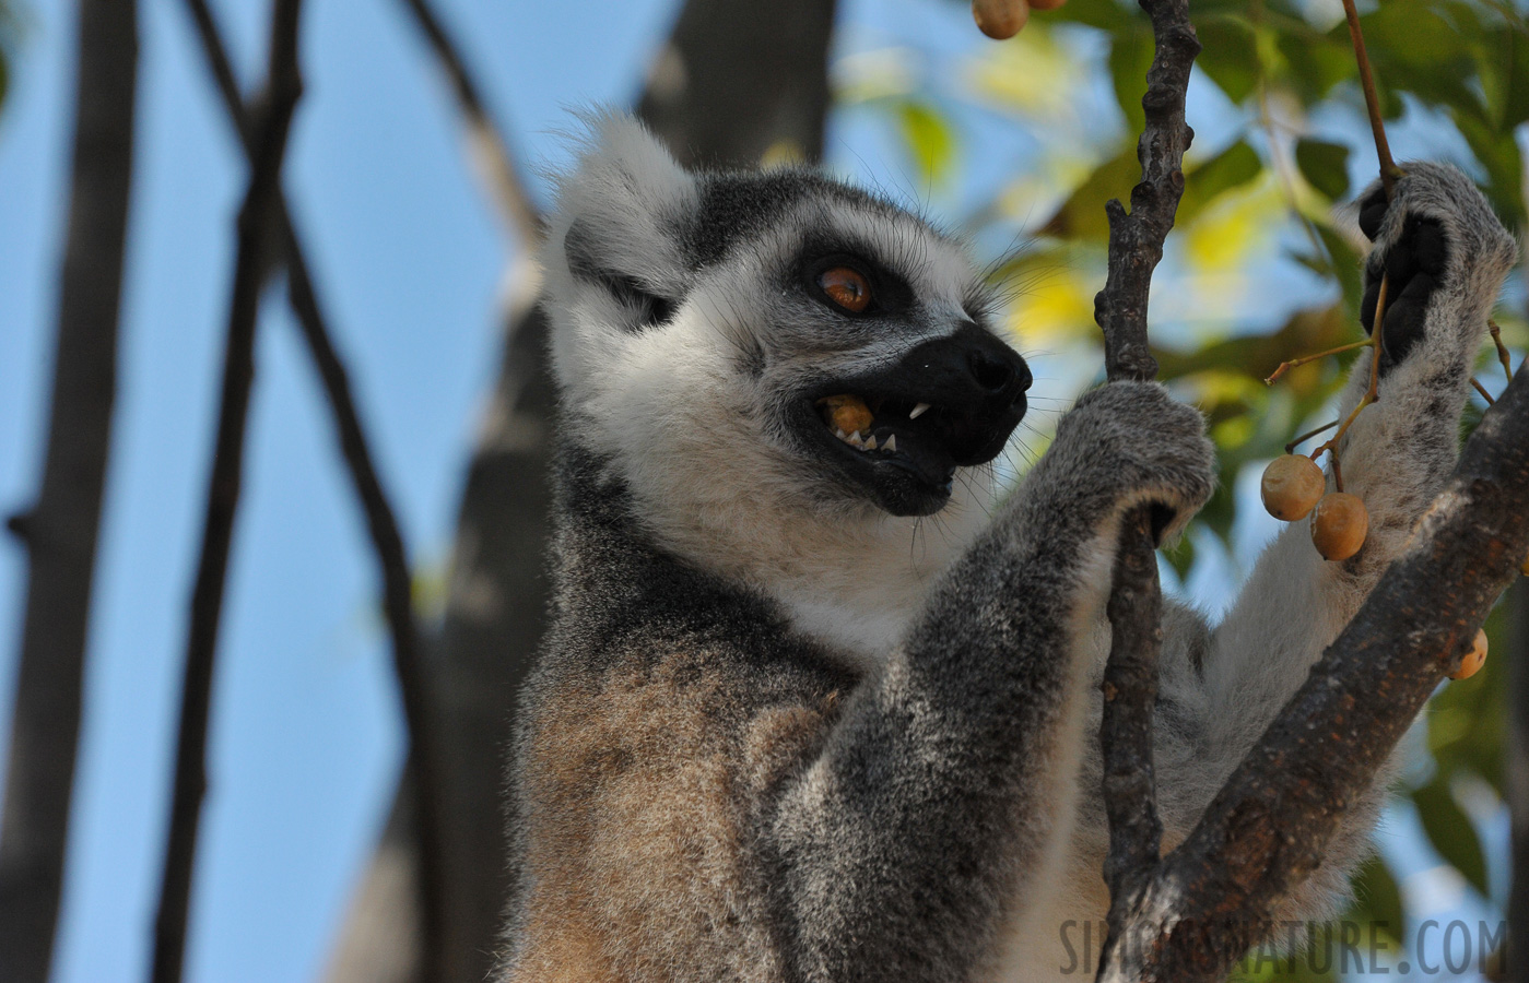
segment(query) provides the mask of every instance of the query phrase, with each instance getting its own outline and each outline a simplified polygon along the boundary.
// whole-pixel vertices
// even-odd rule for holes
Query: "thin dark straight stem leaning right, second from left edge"
[[[280,187],[292,110],[301,95],[297,31],[301,0],[277,0],[272,11],[266,104],[254,127],[249,188],[239,209],[239,248],[229,303],[228,341],[217,420],[217,443],[208,483],[206,518],[191,595],[185,683],[176,738],[174,796],[165,847],[164,882],[154,917],[154,983],[177,983],[185,959],[191,871],[206,790],[206,729],[213,691],[217,627],[232,544],[234,514],[245,459],[245,422],[254,381],[255,316],[260,309],[263,260],[274,234],[272,205]]]

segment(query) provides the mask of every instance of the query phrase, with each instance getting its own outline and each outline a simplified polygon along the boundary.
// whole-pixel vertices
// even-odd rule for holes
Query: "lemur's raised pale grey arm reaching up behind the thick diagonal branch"
[[[1413,526],[1454,468],[1460,413],[1515,243],[1459,170],[1410,164],[1390,208],[1372,190],[1361,225],[1376,240],[1365,268],[1365,318],[1373,320],[1381,271],[1388,271],[1385,358],[1378,402],[1339,443],[1344,491],[1370,515],[1364,549],[1329,563],[1310,541],[1309,521],[1290,523],[1258,560],[1242,595],[1208,637],[1183,613],[1170,619],[1183,637],[1165,647],[1159,714],[1159,787],[1170,838],[1199,818],[1222,780],[1304,682],[1321,651],[1359,610],[1381,573],[1401,555]],[[1339,419],[1368,388],[1372,356],[1356,359]],[[1329,474],[1329,489],[1333,479]],[[1194,665],[1196,653],[1203,665]],[[1330,862],[1298,897],[1321,908],[1346,887],[1365,855],[1384,793],[1378,783],[1341,832]],[[1307,913],[1309,914],[1309,913]]]

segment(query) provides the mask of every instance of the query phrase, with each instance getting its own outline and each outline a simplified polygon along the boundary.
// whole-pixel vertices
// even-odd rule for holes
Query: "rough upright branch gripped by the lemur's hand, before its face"
[[[1104,332],[1104,364],[1110,381],[1153,379],[1157,361],[1147,344],[1147,300],[1151,274],[1183,194],[1183,153],[1194,139],[1183,101],[1190,69],[1200,43],[1190,24],[1187,0],[1139,0],[1151,17],[1156,52],[1142,96],[1145,127],[1136,144],[1142,180],[1131,190],[1131,211],[1118,200],[1105,205],[1110,220],[1109,275],[1093,300]],[[1153,549],[1151,506],[1128,512],[1121,523],[1110,587],[1110,659],[1104,670],[1104,806],[1110,822],[1110,853],[1104,879],[1110,887],[1109,937],[1099,957],[1099,978],[1112,978],[1130,952],[1125,928],[1139,908],[1157,867],[1162,822],[1153,777],[1153,706],[1157,699],[1157,657],[1162,650],[1162,590]]]

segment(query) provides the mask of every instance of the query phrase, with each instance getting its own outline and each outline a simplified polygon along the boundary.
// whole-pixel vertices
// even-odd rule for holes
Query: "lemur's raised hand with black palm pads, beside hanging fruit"
[[[1514,237],[1459,168],[1414,162],[1402,170],[1390,202],[1379,182],[1359,199],[1359,228],[1375,240],[1359,313],[1367,332],[1387,278],[1382,376],[1414,352],[1430,364],[1474,359],[1517,257]]]

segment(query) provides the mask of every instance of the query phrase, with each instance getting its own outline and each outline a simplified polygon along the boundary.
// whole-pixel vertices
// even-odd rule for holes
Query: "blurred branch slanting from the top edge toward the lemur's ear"
[[[440,67],[445,69],[451,81],[451,92],[457,98],[457,109],[462,112],[468,127],[468,141],[472,147],[472,159],[488,187],[489,197],[498,208],[500,217],[515,231],[521,245],[532,246],[541,242],[541,216],[531,202],[528,183],[509,151],[509,142],[503,138],[494,118],[483,102],[477,83],[468,72],[466,60],[451,41],[440,17],[430,6],[428,0],[404,0],[419,29],[425,32],[430,49],[436,52]]]

